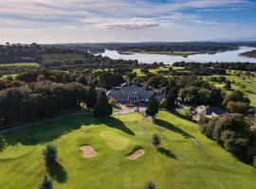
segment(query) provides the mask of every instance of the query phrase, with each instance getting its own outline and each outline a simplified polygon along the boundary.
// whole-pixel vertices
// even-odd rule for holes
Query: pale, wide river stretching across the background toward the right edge
[[[147,54],[147,53],[133,53],[133,54],[119,54],[115,50],[105,50],[101,53],[102,56],[109,57],[114,60],[138,60],[138,62],[153,63],[163,62],[165,64],[172,64],[176,61],[197,61],[197,62],[254,62],[255,58],[247,58],[240,56],[241,53],[256,49],[255,47],[241,46],[238,50],[217,52],[216,54],[197,54],[191,55],[188,58],[173,55],[162,55],[162,54]]]

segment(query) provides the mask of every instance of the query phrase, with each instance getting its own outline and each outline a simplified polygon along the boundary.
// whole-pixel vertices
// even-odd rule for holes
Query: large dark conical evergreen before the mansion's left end
[[[108,103],[106,94],[101,93],[101,96],[94,108],[94,115],[98,117],[105,117],[113,113],[112,106]]]

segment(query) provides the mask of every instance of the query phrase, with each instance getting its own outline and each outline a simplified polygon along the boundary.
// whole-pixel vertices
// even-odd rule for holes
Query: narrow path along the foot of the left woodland
[[[3,129],[3,130],[0,130],[0,135],[5,134],[5,133],[10,132],[10,131],[13,131],[13,130],[17,130],[17,129],[27,129],[27,128],[32,128],[32,127],[34,127],[38,124],[46,124],[47,122],[56,121],[56,120],[59,120],[59,119],[62,119],[64,117],[66,117],[66,116],[86,115],[86,114],[90,114],[90,113],[88,113],[88,112],[72,112],[72,113],[69,113],[69,114],[64,114],[64,115],[60,115],[60,116],[57,116],[57,117],[44,119],[42,121],[37,121],[37,122],[30,123],[30,124],[24,124],[24,125],[21,125],[21,126],[17,126],[15,128]]]

